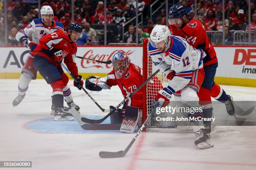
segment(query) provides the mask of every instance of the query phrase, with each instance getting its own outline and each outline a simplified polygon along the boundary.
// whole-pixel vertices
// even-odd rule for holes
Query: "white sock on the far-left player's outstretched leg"
[[[31,82],[32,76],[27,73],[23,72],[20,75],[19,85],[18,85],[18,94],[25,95],[26,91],[28,90],[28,85]]]

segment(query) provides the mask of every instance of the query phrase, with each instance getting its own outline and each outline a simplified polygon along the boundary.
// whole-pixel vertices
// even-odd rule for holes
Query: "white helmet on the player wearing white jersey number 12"
[[[154,42],[164,41],[167,47],[168,46],[167,37],[170,37],[171,35],[172,34],[166,25],[156,25],[150,34],[151,45],[153,47],[156,47]]]

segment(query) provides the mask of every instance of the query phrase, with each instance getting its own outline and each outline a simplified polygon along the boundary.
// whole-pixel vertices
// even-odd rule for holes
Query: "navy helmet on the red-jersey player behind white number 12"
[[[176,19],[176,18],[182,19],[183,15],[187,15],[187,8],[180,4],[173,5],[169,9],[169,14],[168,14],[169,24],[171,24],[172,19]]]

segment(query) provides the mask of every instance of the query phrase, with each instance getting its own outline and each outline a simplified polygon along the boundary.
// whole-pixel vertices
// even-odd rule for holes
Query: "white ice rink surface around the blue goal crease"
[[[205,150],[194,145],[192,133],[142,133],[124,158],[99,158],[100,151],[124,150],[135,134],[36,133],[26,125],[51,117],[51,87],[32,80],[23,102],[13,107],[17,85],[18,80],[0,79],[0,161],[30,160],[28,170],[256,170],[256,127],[218,127],[214,148]],[[72,81],[69,85],[82,115],[104,115]],[[256,88],[222,87],[234,100],[256,99]],[[118,87],[91,95],[104,108],[123,99]]]

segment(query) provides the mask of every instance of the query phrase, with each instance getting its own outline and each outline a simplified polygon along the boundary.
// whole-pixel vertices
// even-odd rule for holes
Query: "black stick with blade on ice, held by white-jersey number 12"
[[[141,134],[141,132],[143,131],[143,128],[145,128],[146,124],[148,123],[148,120],[152,117],[153,113],[156,112],[156,106],[154,108],[154,110],[150,113],[150,115],[148,115],[148,118],[146,119],[146,121],[143,123],[143,125],[141,126],[141,128],[138,130],[137,134],[135,135],[135,137],[131,140],[131,142],[129,143],[129,145],[125,148],[125,150],[121,150],[118,152],[105,152],[105,151],[101,151],[99,153],[100,158],[121,158],[124,157],[126,155],[126,153],[128,152],[128,150],[131,148],[131,146],[133,145],[133,143],[135,142],[135,140],[138,138],[138,135]]]

